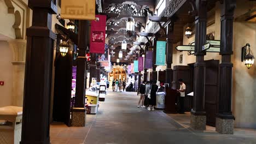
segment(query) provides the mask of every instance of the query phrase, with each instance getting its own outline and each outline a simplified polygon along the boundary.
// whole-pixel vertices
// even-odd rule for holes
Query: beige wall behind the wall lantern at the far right
[[[246,13],[249,2],[237,1],[235,16]],[[234,55],[232,62],[233,89],[232,89],[232,111],[236,117],[235,127],[256,128],[256,65],[247,69],[241,62],[241,47],[249,43],[254,57],[256,56],[256,23],[234,22]]]

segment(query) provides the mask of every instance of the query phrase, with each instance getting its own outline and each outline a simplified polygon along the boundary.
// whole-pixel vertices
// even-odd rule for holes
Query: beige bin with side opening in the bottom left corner
[[[21,141],[22,107],[0,107],[0,143],[19,144]]]

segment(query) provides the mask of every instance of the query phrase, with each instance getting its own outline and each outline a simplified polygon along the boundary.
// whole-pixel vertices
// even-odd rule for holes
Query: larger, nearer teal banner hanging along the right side
[[[165,65],[166,41],[156,41],[156,65]]]

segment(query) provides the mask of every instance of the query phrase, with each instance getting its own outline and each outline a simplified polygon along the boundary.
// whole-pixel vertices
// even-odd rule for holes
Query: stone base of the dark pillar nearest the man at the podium
[[[206,116],[191,115],[190,126],[194,130],[206,130]]]

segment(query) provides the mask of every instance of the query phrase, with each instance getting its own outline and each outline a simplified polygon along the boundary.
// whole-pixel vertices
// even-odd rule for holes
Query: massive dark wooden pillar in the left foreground
[[[50,95],[55,34],[51,31],[52,1],[30,0],[32,26],[27,28],[26,71],[21,144],[50,143]]]

